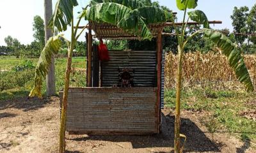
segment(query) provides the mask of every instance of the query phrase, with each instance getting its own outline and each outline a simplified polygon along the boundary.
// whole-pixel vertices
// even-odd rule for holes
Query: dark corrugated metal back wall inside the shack
[[[134,71],[134,87],[156,87],[156,51],[109,50],[110,61],[102,62],[102,87],[118,85],[118,69]]]

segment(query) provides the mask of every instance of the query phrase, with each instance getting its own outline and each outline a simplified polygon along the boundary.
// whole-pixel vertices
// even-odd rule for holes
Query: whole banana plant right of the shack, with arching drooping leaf
[[[246,91],[253,91],[253,84],[248,73],[248,69],[244,64],[243,57],[241,53],[236,48],[236,45],[232,43],[232,41],[228,40],[227,36],[221,34],[218,31],[212,30],[209,27],[208,19],[203,11],[200,10],[191,10],[195,9],[198,5],[198,0],[176,0],[177,8],[179,10],[184,11],[184,17],[182,22],[182,30],[179,32],[176,25],[173,25],[175,28],[175,33],[177,34],[177,38],[179,41],[178,51],[179,51],[179,61],[178,61],[178,70],[177,70],[177,82],[176,82],[176,106],[175,106],[175,153],[180,153],[183,150],[183,147],[180,146],[180,138],[185,138],[186,136],[180,134],[180,97],[181,97],[181,89],[182,89],[182,59],[184,55],[184,48],[189,40],[191,40],[196,34],[204,34],[206,38],[209,38],[218,48],[221,49],[222,54],[227,56],[228,64],[234,69],[236,73],[236,77],[239,82],[243,83],[246,87]],[[187,36],[185,38],[186,33],[186,25],[189,20],[193,20],[198,22],[198,24],[202,24],[204,29],[200,29],[195,33]],[[174,22],[174,20],[173,20]],[[184,146],[184,145],[183,145]]]

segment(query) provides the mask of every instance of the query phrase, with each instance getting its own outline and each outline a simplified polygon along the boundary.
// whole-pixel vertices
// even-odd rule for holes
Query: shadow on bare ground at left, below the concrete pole
[[[48,103],[52,103],[52,101],[56,101],[56,97],[52,98],[29,98],[28,94],[29,92],[26,92],[24,94],[24,91],[20,91],[22,93],[19,93],[19,91],[12,92],[13,95],[21,95],[20,97],[17,96],[16,98],[6,98],[5,100],[0,100],[0,110],[5,110],[6,108],[17,108],[21,109],[24,112],[27,112],[29,110],[38,110],[39,108],[44,107]],[[6,96],[6,94],[10,93],[0,93],[0,96]],[[15,117],[14,114],[6,114],[7,117]],[[1,118],[1,115],[0,115]]]

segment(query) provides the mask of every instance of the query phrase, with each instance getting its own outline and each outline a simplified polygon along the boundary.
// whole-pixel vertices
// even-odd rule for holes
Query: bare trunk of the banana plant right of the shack
[[[174,150],[175,153],[180,153],[180,94],[182,85],[182,58],[184,48],[178,47],[179,50],[179,62],[178,62],[178,73],[177,73],[177,87],[176,87],[176,110],[175,110],[175,140]]]

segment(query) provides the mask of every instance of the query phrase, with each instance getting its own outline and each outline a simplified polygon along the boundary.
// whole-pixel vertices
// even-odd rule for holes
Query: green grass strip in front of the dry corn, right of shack
[[[164,93],[165,106],[175,109],[175,90]],[[241,116],[244,110],[255,110],[250,104],[256,94],[244,91],[215,91],[212,89],[193,89],[182,91],[182,109],[205,113],[202,123],[209,131],[227,131],[240,138],[249,138],[256,142],[256,122]],[[214,119],[214,125],[211,122]],[[216,121],[216,122],[215,122]],[[217,125],[217,126],[216,126]],[[216,127],[215,127],[216,126]]]

